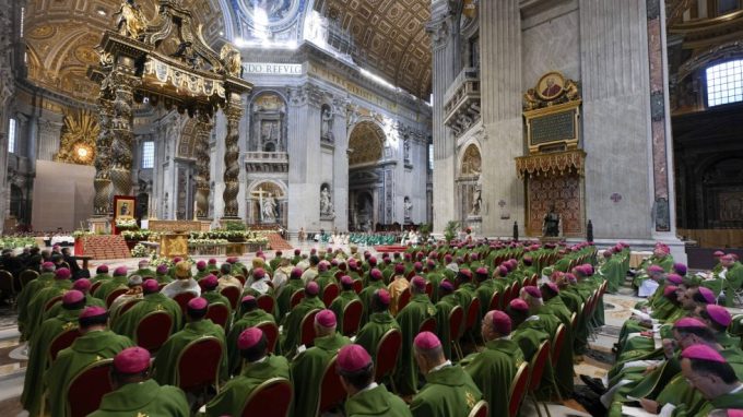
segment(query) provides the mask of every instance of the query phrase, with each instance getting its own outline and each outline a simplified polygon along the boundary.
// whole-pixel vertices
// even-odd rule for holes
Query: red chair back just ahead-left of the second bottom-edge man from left
[[[222,342],[216,337],[201,337],[189,343],[180,352],[176,364],[176,385],[185,392],[200,393],[211,385],[220,392]]]

